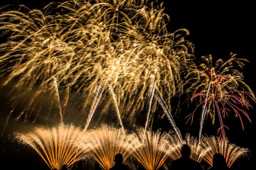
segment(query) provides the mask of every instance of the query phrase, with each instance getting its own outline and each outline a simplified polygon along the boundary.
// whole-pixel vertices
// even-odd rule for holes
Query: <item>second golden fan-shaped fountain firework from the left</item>
[[[114,165],[117,153],[123,155],[125,161],[139,146],[136,135],[128,134],[122,128],[102,125],[91,129],[83,136],[82,145],[90,148],[90,154],[104,170],[109,170]]]

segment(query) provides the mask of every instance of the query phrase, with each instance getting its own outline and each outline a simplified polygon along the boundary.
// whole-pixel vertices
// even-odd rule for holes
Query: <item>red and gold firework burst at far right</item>
[[[222,59],[217,60],[215,66],[213,66],[211,55],[202,57],[202,59],[204,63],[197,70],[200,84],[196,82],[189,89],[193,89],[195,92],[191,100],[199,98],[199,104],[194,112],[187,116],[187,122],[191,120],[192,123],[197,108],[202,106],[200,137],[205,117],[211,118],[214,124],[217,113],[220,126],[218,135],[220,139],[225,140],[225,130],[228,127],[224,124],[223,119],[228,117],[231,111],[239,118],[242,129],[244,129],[243,116],[251,122],[246,110],[252,108],[250,102],[256,102],[255,95],[251,88],[243,82],[243,74],[240,72],[244,63],[248,61],[237,58],[234,54],[225,62]]]

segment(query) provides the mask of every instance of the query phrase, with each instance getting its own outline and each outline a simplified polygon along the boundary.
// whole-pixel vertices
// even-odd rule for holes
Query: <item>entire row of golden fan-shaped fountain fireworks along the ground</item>
[[[122,128],[101,125],[96,129],[82,131],[74,125],[60,124],[53,128],[35,128],[30,133],[15,133],[20,143],[32,147],[51,170],[59,170],[62,165],[72,165],[85,156],[92,156],[104,170],[114,165],[116,153],[122,153],[124,161],[135,158],[146,170],[158,170],[168,157],[175,160],[181,156],[183,144],[191,147],[191,158],[212,165],[214,153],[225,156],[228,166],[249,152],[219,140],[216,136],[203,136],[200,143],[197,137],[186,134],[182,141],[176,132],[162,133],[159,130],[145,131],[138,128],[128,133]]]

